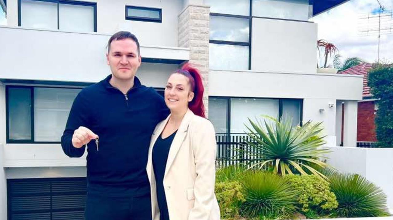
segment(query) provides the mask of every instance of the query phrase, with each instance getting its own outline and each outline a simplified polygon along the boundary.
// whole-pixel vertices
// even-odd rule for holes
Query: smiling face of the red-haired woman
[[[165,103],[171,111],[182,111],[188,108],[188,102],[193,100],[189,79],[178,73],[172,74],[164,92]]]

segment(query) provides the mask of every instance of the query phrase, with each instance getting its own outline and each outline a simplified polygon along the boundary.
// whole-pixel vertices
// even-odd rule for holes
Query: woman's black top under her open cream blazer
[[[167,200],[165,198],[164,191],[164,174],[165,167],[167,165],[167,159],[169,154],[169,149],[171,149],[171,144],[176,132],[173,132],[169,137],[162,139],[161,135],[157,138],[154,143],[152,152],[152,162],[154,176],[156,177],[156,187],[157,187],[157,200],[158,207],[160,208],[160,220],[169,220]]]

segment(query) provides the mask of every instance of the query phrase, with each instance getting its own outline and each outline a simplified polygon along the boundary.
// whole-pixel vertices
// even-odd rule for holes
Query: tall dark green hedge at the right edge
[[[368,73],[371,94],[379,99],[375,118],[378,146],[393,147],[393,64],[378,63]]]

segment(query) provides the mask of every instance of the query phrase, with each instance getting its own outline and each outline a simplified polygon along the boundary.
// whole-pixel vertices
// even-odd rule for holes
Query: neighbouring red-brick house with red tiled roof
[[[360,63],[354,67],[343,70],[339,74],[351,74],[363,76],[363,99],[358,101],[358,146],[369,146],[376,142],[375,115],[377,110],[376,99],[370,92],[368,71],[372,68],[371,63]]]

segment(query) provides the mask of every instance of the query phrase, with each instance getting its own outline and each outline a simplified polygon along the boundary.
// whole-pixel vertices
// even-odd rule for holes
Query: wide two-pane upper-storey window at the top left
[[[97,4],[68,0],[19,0],[18,25],[61,31],[97,32]]]

